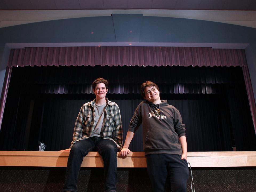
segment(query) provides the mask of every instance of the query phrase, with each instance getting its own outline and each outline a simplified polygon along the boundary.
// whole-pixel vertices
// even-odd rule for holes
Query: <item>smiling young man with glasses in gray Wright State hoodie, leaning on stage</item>
[[[141,85],[142,101],[134,112],[121,155],[127,157],[134,132],[142,123],[147,172],[154,192],[164,191],[168,177],[171,191],[185,192],[189,174],[185,125],[179,111],[160,99],[158,86]]]

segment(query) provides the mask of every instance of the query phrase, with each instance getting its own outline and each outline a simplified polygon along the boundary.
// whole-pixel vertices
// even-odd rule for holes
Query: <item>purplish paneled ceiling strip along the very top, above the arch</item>
[[[215,9],[256,10],[256,0],[0,0],[1,10]]]

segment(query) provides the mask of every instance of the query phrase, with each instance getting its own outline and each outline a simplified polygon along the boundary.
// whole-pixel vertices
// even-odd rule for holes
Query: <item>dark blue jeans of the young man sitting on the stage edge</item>
[[[100,137],[90,137],[74,143],[67,161],[66,182],[63,191],[77,191],[77,178],[83,157],[89,151],[93,151],[94,148],[102,156],[104,162],[104,191],[115,191],[117,182],[117,146],[112,140]]]

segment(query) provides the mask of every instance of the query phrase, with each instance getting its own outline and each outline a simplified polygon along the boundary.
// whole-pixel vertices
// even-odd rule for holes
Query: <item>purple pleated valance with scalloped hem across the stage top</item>
[[[8,66],[247,66],[243,49],[210,47],[26,47]]]

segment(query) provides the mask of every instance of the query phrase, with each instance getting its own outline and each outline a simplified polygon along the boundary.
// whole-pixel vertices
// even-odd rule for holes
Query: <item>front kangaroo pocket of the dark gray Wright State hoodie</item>
[[[176,148],[174,135],[170,129],[155,128],[147,130],[145,150],[170,150]]]

